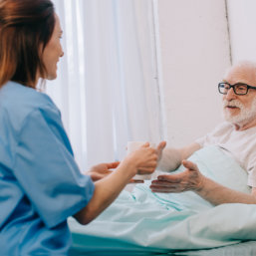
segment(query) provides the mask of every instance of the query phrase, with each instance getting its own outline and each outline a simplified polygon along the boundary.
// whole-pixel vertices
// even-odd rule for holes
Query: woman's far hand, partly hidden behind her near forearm
[[[106,176],[108,176],[110,173],[112,173],[111,169],[117,168],[119,166],[119,161],[109,162],[109,163],[100,163],[95,166],[93,166],[88,172],[86,172],[86,175],[90,175],[93,181],[97,181],[99,179],[102,179]]]

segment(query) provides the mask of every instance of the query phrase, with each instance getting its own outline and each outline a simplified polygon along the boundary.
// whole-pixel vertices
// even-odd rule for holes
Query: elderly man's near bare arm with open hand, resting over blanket
[[[214,205],[222,203],[247,203],[256,204],[256,188],[251,194],[239,192],[225,187],[203,176],[195,163],[183,160],[186,169],[177,174],[159,175],[150,186],[153,192],[177,193],[194,191],[199,196]]]

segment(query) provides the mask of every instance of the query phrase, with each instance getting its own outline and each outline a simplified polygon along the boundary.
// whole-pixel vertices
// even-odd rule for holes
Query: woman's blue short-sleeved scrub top
[[[67,218],[90,201],[90,176],[74,160],[61,115],[45,94],[0,89],[0,254],[65,255]]]

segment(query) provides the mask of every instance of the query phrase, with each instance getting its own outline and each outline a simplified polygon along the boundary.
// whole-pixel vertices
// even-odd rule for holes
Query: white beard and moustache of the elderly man
[[[232,116],[230,112],[225,109],[226,106],[238,107],[240,109],[240,113]],[[224,119],[234,125],[246,125],[250,121],[256,119],[256,98],[253,100],[251,108],[245,108],[238,100],[233,100],[231,102],[224,100],[223,107]]]

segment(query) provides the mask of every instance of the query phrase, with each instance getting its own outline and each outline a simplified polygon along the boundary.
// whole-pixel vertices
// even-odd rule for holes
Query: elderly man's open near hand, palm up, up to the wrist
[[[188,160],[182,160],[186,169],[177,174],[159,175],[152,180],[150,189],[159,193],[178,193],[188,190],[199,191],[203,187],[204,176],[197,165]]]

